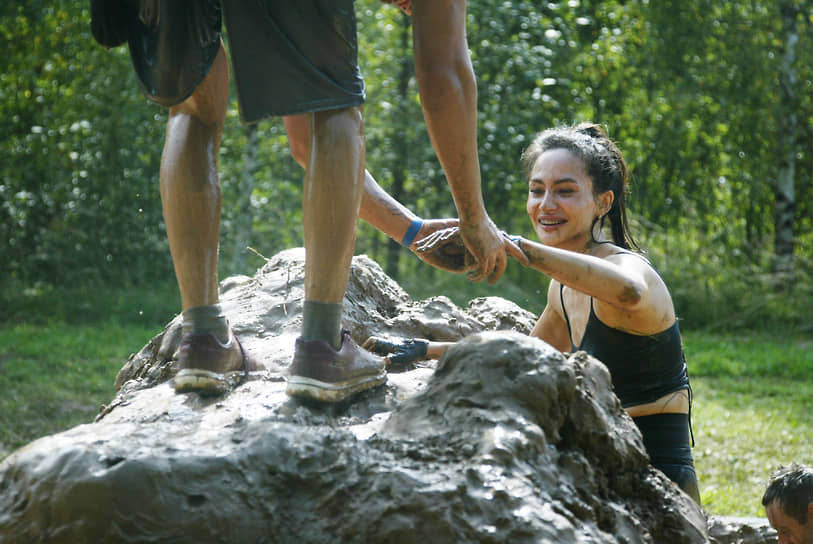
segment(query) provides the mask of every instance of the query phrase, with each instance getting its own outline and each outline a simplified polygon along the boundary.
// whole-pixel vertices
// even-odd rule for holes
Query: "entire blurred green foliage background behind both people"
[[[423,124],[410,19],[378,0],[359,0],[356,10],[368,168],[419,215],[454,216]],[[552,124],[601,122],[631,166],[636,237],[687,326],[810,327],[812,19],[804,7],[793,280],[769,275],[784,37],[768,0],[470,1],[483,191],[493,219],[532,235],[523,148]],[[0,7],[0,277],[19,285],[145,285],[172,276],[158,187],[166,112],[140,94],[126,48],[98,46],[88,22],[86,2]],[[270,256],[303,243],[303,172],[279,119],[259,123],[258,136],[250,245]],[[245,146],[233,98],[220,154],[221,275],[261,264],[249,257],[249,270],[227,269],[235,251],[246,251],[231,236]],[[392,244],[360,227],[357,253],[383,265]],[[430,270],[404,250],[397,271],[422,296],[447,293],[465,303],[500,295],[533,311],[544,304],[545,278],[516,263],[496,288]]]

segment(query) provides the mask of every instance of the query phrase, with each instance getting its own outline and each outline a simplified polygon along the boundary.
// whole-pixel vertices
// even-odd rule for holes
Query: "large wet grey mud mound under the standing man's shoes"
[[[9,456],[0,541],[708,540],[699,508],[649,466],[606,368],[520,334],[533,316],[510,302],[413,301],[357,257],[345,308],[357,341],[463,340],[352,403],[287,398],[303,270],[290,250],[222,285],[266,366],[230,394],[174,394],[176,319],[124,365],[96,422]]]

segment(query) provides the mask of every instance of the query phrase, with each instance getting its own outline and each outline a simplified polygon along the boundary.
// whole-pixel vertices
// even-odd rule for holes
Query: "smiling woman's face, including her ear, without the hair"
[[[545,151],[531,169],[526,209],[545,245],[585,251],[593,240],[593,221],[612,202],[612,191],[593,195],[584,162],[567,149]]]

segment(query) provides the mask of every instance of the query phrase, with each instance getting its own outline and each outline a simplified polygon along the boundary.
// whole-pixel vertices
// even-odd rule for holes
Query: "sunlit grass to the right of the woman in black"
[[[695,402],[693,451],[711,514],[764,516],[779,465],[813,465],[813,338],[684,333]]]

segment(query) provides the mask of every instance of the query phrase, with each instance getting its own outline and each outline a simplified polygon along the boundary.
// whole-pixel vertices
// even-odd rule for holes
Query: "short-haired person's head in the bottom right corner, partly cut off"
[[[768,482],[762,506],[779,544],[813,544],[813,468],[779,469]]]

